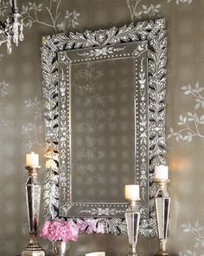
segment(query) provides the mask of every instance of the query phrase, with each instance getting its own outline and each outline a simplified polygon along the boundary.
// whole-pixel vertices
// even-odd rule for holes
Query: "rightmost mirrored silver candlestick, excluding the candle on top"
[[[156,255],[169,255],[166,250],[167,232],[169,226],[170,196],[167,191],[169,180],[156,180],[156,220],[159,238],[159,250]]]

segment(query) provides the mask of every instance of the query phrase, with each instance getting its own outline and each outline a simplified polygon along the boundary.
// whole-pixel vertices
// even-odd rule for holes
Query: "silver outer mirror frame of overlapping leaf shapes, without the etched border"
[[[154,167],[166,164],[165,141],[165,94],[166,94],[166,31],[165,20],[156,22],[139,22],[136,25],[111,30],[88,31],[84,34],[72,32],[69,36],[58,34],[43,37],[41,48],[41,63],[43,76],[43,101],[46,140],[46,177],[44,184],[44,207],[46,220],[59,217],[59,73],[58,56],[63,50],[86,49],[94,46],[104,46],[116,43],[148,42],[148,78],[149,78],[149,159],[150,173],[150,218],[141,220],[139,233],[153,237],[157,233],[154,195],[156,187],[153,182]],[[141,49],[143,50],[143,49]],[[74,218],[78,221],[79,218]],[[86,223],[103,223],[105,233],[126,233],[124,219],[117,218],[85,218]]]

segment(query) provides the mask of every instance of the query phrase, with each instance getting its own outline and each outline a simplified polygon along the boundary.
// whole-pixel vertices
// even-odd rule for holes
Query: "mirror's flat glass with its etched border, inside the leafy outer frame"
[[[66,181],[61,216],[124,217],[124,185],[132,183],[140,184],[140,204],[148,215],[147,48],[138,56],[138,47],[141,43],[121,43],[59,56],[59,146],[66,151],[60,154],[61,180]]]

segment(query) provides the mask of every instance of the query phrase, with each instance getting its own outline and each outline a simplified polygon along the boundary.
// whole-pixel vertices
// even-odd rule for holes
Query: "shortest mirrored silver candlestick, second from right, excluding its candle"
[[[138,199],[139,200],[139,199]],[[137,256],[137,236],[139,230],[140,212],[137,204],[138,200],[128,200],[128,207],[125,211],[125,220],[127,223],[127,233],[130,245],[128,256]]]

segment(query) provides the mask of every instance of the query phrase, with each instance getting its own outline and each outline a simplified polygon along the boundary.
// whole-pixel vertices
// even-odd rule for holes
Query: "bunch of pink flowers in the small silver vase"
[[[41,228],[40,235],[50,241],[77,241],[79,237],[79,227],[73,220],[46,221]]]

